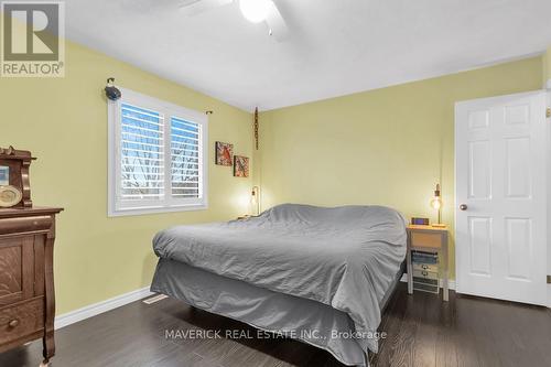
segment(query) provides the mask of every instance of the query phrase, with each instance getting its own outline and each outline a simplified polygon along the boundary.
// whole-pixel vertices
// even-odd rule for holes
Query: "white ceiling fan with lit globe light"
[[[241,14],[251,23],[264,22],[269,34],[281,42],[289,36],[289,29],[278,7],[272,0],[182,0],[180,9],[188,17],[214,8],[239,3]]]

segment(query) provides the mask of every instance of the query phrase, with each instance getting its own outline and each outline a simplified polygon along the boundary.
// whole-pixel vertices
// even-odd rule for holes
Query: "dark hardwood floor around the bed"
[[[282,338],[166,338],[166,330],[240,330],[245,324],[166,299],[134,302],[57,331],[52,367],[343,366],[329,354]],[[388,334],[372,366],[551,366],[551,311],[451,293],[408,295],[399,285],[383,314]],[[0,354],[0,366],[39,366],[41,343]]]

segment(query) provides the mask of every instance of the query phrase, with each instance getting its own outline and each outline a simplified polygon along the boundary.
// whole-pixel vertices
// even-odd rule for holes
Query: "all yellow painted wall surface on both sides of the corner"
[[[175,224],[224,220],[249,211],[251,180],[215,165],[214,142],[251,156],[262,206],[382,204],[434,217],[429,199],[443,185],[453,223],[453,104],[541,87],[551,50],[525,60],[261,114],[253,151],[250,114],[86,47],[67,43],[64,78],[0,78],[0,147],[29,149],[36,205],[63,206],[55,246],[57,313],[142,287],[155,257],[151,238]],[[212,109],[209,208],[108,218],[107,77],[187,108]],[[453,253],[453,251],[452,251]],[[453,260],[452,260],[453,265]]]

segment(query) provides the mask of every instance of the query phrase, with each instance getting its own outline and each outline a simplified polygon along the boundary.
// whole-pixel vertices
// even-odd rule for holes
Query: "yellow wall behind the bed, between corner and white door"
[[[381,204],[435,219],[429,202],[440,182],[453,231],[454,102],[541,80],[536,57],[263,112],[262,206]]]

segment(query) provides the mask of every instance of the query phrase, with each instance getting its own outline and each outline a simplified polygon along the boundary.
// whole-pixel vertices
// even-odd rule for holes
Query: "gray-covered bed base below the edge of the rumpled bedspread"
[[[383,309],[402,271],[383,299]],[[348,366],[367,366],[367,354],[353,338],[350,317],[320,302],[273,292],[239,280],[225,278],[183,262],[160,259],[151,291],[166,294],[215,314],[300,339],[331,353]]]

